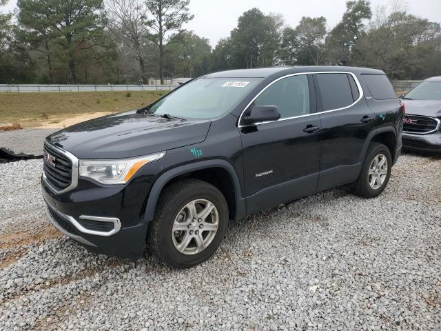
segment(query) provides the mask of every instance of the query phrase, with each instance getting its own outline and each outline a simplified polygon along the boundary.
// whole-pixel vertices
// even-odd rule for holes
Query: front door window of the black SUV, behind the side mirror
[[[257,106],[277,106],[281,119],[309,114],[309,85],[306,74],[276,81],[254,101]]]

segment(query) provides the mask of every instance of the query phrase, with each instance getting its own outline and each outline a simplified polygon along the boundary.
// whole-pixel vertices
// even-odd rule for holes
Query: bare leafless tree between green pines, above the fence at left
[[[140,0],[107,0],[108,27],[116,39],[119,48],[139,63],[141,80],[147,81],[147,51],[150,41],[147,39],[147,6]]]

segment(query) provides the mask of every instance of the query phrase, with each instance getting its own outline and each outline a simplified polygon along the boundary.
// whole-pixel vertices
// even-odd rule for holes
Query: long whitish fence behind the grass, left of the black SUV
[[[9,85],[0,84],[0,92],[105,92],[174,90],[177,85]]]

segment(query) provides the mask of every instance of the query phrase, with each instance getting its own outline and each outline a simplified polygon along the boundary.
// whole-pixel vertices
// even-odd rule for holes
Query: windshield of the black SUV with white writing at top
[[[201,78],[185,84],[147,108],[147,114],[215,119],[229,112],[261,78]]]

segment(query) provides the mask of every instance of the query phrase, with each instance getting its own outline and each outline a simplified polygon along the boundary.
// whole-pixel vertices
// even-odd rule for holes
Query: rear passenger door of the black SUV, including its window
[[[318,73],[314,83],[322,126],[318,190],[325,190],[357,179],[363,146],[375,126],[355,74]]]

